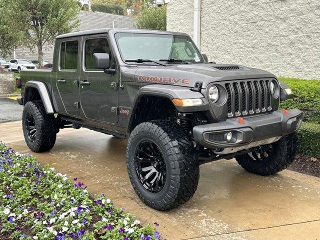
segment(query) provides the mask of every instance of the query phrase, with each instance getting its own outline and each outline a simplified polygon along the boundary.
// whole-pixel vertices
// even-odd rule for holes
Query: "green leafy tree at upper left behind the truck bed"
[[[0,52],[36,47],[39,66],[43,45],[78,26],[77,0],[0,0]]]

